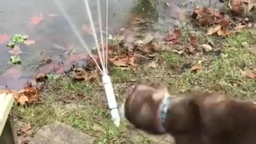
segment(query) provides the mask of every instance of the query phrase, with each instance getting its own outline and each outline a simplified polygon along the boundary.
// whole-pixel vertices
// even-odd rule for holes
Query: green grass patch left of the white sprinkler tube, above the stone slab
[[[119,129],[113,125],[101,85],[77,83],[67,77],[53,79],[47,85],[41,94],[41,105],[14,105],[14,116],[22,116],[17,117],[20,125],[30,122],[36,128],[60,121],[96,137],[94,143],[150,143],[149,139],[141,135],[130,138],[127,135],[126,123],[122,123]]]

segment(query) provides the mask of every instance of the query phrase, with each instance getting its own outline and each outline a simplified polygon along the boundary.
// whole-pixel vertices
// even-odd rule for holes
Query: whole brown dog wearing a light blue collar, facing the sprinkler
[[[173,98],[165,87],[138,85],[123,109],[137,129],[169,133],[177,144],[256,143],[256,105],[219,92],[191,91]]]

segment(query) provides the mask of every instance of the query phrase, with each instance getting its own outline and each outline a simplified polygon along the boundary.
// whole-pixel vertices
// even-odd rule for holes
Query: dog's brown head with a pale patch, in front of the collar
[[[122,106],[124,117],[137,129],[162,134],[159,107],[169,93],[164,86],[134,86]]]

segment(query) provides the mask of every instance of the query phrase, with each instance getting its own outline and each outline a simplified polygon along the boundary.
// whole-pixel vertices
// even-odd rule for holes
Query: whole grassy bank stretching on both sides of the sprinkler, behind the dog
[[[111,67],[118,101],[124,100],[125,91],[135,80],[167,84],[170,93],[197,87],[227,92],[234,97],[254,98],[256,76],[252,71],[256,66],[256,29],[243,30],[216,42],[221,43],[215,44],[221,47],[214,47],[212,52],[158,52],[155,59],[138,65],[135,72]],[[109,119],[102,85],[98,83],[74,82],[67,76],[50,79],[41,92],[41,100],[37,106],[14,106],[12,113],[18,127],[31,123],[36,132],[43,125],[60,121],[96,137],[95,143],[157,141],[134,130],[130,133],[127,123],[115,129]]]

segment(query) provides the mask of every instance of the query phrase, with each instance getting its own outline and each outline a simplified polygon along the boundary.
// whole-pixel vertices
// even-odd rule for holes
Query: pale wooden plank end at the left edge
[[[11,111],[13,102],[14,98],[11,93],[0,94],[0,135],[3,132],[4,125]]]

